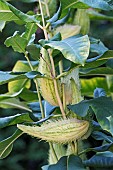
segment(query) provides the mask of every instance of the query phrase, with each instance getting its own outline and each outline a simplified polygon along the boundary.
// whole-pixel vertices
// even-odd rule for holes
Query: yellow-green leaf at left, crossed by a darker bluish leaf
[[[30,67],[22,62],[21,60],[18,60],[13,68],[13,72],[29,72],[31,71]],[[28,78],[15,80],[8,83],[8,90],[10,93],[15,93],[20,91],[22,88],[29,88],[30,87],[30,81],[28,81]]]

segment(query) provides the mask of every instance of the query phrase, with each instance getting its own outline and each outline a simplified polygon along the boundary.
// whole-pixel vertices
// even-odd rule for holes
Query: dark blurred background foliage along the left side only
[[[12,3],[23,12],[34,10],[35,3],[27,4],[22,2]],[[0,70],[10,71],[17,60],[23,60],[22,54],[16,53],[12,48],[6,48],[4,41],[7,37],[13,35],[18,30],[20,33],[24,31],[24,27],[15,24],[14,22],[7,23],[2,33],[0,32]],[[0,88],[0,93],[7,92],[7,85]],[[17,109],[0,109],[1,117],[20,113]],[[4,128],[0,131],[0,141],[12,135],[16,130],[15,127]],[[4,160],[0,160],[0,170],[40,170],[41,166],[47,164],[48,145],[44,142],[39,142],[35,138],[27,135],[22,135],[15,143],[10,156]],[[36,154],[37,153],[37,154]]]

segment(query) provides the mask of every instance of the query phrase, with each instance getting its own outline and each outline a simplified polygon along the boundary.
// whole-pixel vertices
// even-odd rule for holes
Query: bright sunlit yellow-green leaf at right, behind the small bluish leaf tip
[[[83,96],[93,96],[93,92],[96,88],[103,88],[108,93],[106,78],[95,77],[90,79],[81,79],[81,92]]]

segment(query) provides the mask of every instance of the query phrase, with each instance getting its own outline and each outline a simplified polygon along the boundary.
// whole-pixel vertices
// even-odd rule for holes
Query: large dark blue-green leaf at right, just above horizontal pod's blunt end
[[[78,104],[70,105],[69,108],[77,115],[84,117],[87,115],[90,106],[102,129],[113,134],[113,101],[110,98],[99,97],[84,100]]]

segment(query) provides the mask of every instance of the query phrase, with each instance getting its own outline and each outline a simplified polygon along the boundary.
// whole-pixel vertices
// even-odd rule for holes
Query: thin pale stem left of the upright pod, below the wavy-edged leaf
[[[25,53],[25,58],[28,61],[28,64],[29,64],[31,70],[34,71],[33,66],[32,66],[32,64],[29,60],[29,57],[28,57],[28,52]],[[43,109],[43,105],[42,105],[41,95],[40,95],[40,92],[39,92],[38,82],[37,82],[36,79],[34,79],[34,82],[35,82],[35,85],[36,85],[36,90],[37,90],[37,94],[38,94],[38,100],[39,100],[39,103],[40,103],[40,110],[41,110],[42,118],[44,118],[45,114],[44,114],[44,109]]]

